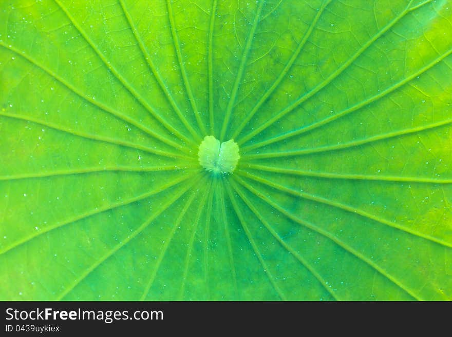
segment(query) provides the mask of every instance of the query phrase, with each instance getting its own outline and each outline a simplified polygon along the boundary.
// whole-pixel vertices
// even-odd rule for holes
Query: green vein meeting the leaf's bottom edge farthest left
[[[150,223],[152,223],[161,213],[163,213],[167,208],[169,208],[171,205],[173,205],[187,190],[189,190],[196,182],[198,182],[200,177],[198,179],[194,179],[193,181],[189,182],[189,184],[186,184],[186,186],[180,191],[178,194],[174,194],[173,197],[168,200],[166,203],[161,205],[158,209],[156,209],[149,218],[140,225],[137,229],[135,229],[133,232],[130,233],[127,237],[125,237],[119,244],[117,244],[115,247],[110,249],[108,252],[106,252],[104,255],[102,255],[98,260],[96,260],[95,263],[93,263],[89,268],[87,268],[79,277],[77,277],[76,280],[74,280],[67,288],[65,288],[64,291],[62,291],[58,298],[56,298],[57,301],[61,301],[69,292],[71,292],[77,285],[79,285],[86,277],[92,273],[97,267],[99,267],[103,262],[105,262],[109,257],[111,257],[113,254],[115,254],[119,249],[124,247],[126,244],[128,244],[134,237],[136,237],[138,234],[140,234],[144,229],[149,226]]]

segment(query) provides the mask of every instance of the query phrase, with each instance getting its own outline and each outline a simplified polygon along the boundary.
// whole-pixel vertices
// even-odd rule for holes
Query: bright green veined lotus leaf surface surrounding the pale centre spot
[[[451,54],[450,0],[2,1],[0,300],[452,300]]]

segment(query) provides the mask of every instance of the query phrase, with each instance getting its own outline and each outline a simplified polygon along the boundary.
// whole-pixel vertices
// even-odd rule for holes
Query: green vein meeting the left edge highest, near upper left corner
[[[65,86],[66,88],[68,88],[70,91],[72,91],[74,94],[78,95],[79,97],[83,98],[83,100],[89,102],[90,104],[100,108],[101,110],[114,115],[115,117],[117,117],[119,120],[122,120],[124,122],[127,122],[133,126],[135,126],[136,128],[140,129],[141,131],[147,133],[148,135],[152,136],[153,138],[168,144],[178,150],[181,150],[184,146],[174,143],[171,140],[168,140],[165,137],[162,137],[161,135],[159,135],[158,133],[154,132],[153,130],[145,127],[144,125],[142,125],[140,122],[134,120],[134,118],[130,118],[127,115],[116,111],[115,109],[112,109],[108,106],[106,106],[103,103],[100,103],[98,101],[96,101],[94,98],[84,94],[82,91],[80,91],[79,89],[77,89],[76,87],[74,87],[73,85],[71,85],[69,82],[66,82],[62,77],[60,77],[59,75],[57,75],[56,73],[52,72],[50,69],[46,68],[45,66],[41,65],[40,63],[38,63],[37,61],[35,61],[33,58],[31,58],[30,56],[26,55],[25,53],[21,53],[20,51],[18,51],[17,49],[15,49],[14,47],[12,47],[11,45],[6,45],[4,42],[0,41],[0,46],[11,50],[12,52],[16,53],[19,56],[22,56],[25,60],[27,60],[28,62],[30,62],[33,66],[40,68],[42,71],[46,72],[49,76],[53,77],[56,81],[58,81],[59,83],[61,83],[63,86]],[[187,151],[187,150],[186,150]]]

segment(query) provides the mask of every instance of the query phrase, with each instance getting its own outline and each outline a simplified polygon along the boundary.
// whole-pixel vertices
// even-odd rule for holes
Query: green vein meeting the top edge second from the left
[[[163,83],[162,76],[157,71],[156,66],[154,65],[154,62],[152,62],[152,58],[149,55],[149,52],[147,51],[146,46],[144,45],[143,39],[140,37],[140,34],[137,30],[137,28],[134,25],[133,19],[131,18],[129,12],[127,11],[127,8],[125,7],[124,0],[119,0],[121,4],[122,11],[124,12],[125,17],[127,18],[127,22],[130,26],[131,31],[133,32],[135,39],[138,42],[138,46],[141,49],[141,52],[143,53],[143,56],[147,62],[147,65],[149,66],[150,71],[154,74],[154,77],[157,80],[157,83],[159,84],[160,88],[162,89],[163,93],[166,95],[166,98],[168,102],[170,102],[171,106],[173,107],[176,114],[179,116],[180,121],[185,126],[185,128],[192,134],[192,136],[195,138],[195,140],[200,140],[198,133],[193,129],[193,127],[190,125],[189,121],[185,118],[182,111],[180,110],[179,106],[177,105],[176,101],[173,98],[173,95],[170,93],[166,85]]]

